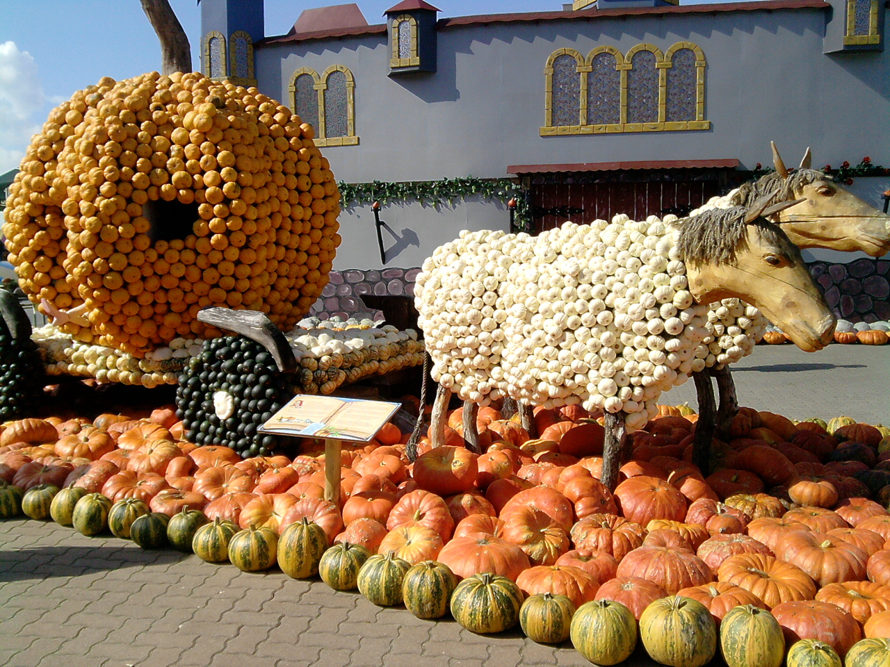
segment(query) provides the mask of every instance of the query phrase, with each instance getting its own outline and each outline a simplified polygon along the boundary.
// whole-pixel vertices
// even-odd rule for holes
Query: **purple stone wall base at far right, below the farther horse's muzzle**
[[[854,323],[890,320],[890,261],[815,261],[810,273],[837,317]]]

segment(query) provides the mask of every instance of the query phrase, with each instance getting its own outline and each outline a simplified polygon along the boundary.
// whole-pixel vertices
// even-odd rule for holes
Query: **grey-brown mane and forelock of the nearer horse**
[[[800,256],[797,245],[789,241],[779,225],[765,218],[746,222],[747,213],[748,209],[744,206],[714,208],[678,221],[680,236],[677,250],[683,261],[692,267],[703,264],[734,265],[740,250],[748,247],[748,227],[756,228],[761,238],[777,246],[783,254]]]

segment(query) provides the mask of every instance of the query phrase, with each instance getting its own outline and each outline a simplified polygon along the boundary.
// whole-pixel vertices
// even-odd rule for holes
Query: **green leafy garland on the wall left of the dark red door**
[[[452,206],[457,199],[480,196],[498,199],[505,204],[513,199],[516,203],[514,226],[519,231],[530,231],[531,216],[525,192],[518,183],[510,179],[480,179],[474,176],[441,181],[371,181],[370,183],[347,183],[339,181],[340,202],[344,209],[355,206],[380,205],[396,202],[418,201],[424,206]]]

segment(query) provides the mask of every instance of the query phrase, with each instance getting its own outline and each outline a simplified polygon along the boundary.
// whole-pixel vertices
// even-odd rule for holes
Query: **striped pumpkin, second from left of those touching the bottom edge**
[[[717,648],[714,617],[699,601],[672,595],[640,616],[640,639],[652,660],[672,667],[701,667]]]

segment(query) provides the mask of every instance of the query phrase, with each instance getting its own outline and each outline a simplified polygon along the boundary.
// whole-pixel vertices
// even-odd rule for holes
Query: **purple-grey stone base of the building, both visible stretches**
[[[383,319],[380,310],[369,310],[361,294],[414,294],[420,273],[413,269],[346,269],[331,271],[330,282],[312,306],[311,315]],[[861,259],[849,264],[814,261],[810,273],[837,317],[850,322],[890,320],[890,261]]]

